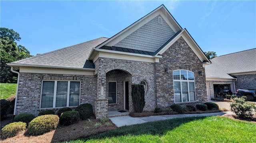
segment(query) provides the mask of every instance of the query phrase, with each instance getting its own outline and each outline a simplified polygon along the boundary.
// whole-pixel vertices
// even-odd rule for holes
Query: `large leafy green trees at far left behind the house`
[[[30,52],[22,45],[17,45],[16,41],[19,41],[20,34],[13,29],[0,28],[0,81],[1,83],[16,83],[17,74],[11,71],[11,68],[6,65],[13,61],[18,61],[31,57]]]

